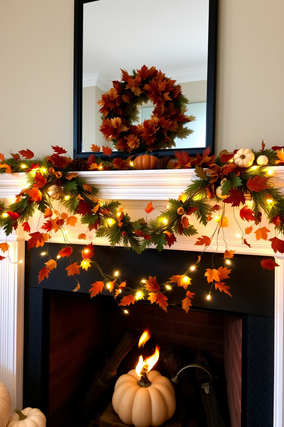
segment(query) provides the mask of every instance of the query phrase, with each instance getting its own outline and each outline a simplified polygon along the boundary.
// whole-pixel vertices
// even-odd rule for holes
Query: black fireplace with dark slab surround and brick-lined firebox
[[[56,243],[50,244],[51,257],[60,248]],[[78,249],[82,246],[78,245]],[[233,298],[215,292],[208,301],[204,269],[199,268],[191,286],[192,292],[198,287],[199,296],[196,293],[189,313],[181,309],[180,290],[176,289],[169,299],[168,313],[143,301],[129,307],[129,314],[125,314],[107,290],[89,298],[90,285],[100,279],[94,270],[81,274],[82,292],[72,292],[65,260],[58,263],[55,275],[38,285],[41,252],[40,248],[26,252],[23,401],[24,406],[40,407],[49,427],[72,422],[79,427],[75,414],[82,420],[78,404],[96,370],[110,357],[126,331],[138,337],[147,327],[153,345],[158,342],[162,349],[169,343],[175,346],[182,366],[195,363],[196,354],[204,352],[217,377],[213,385],[226,426],[273,426],[274,272],[260,272],[256,268],[259,257],[235,255],[230,279]],[[179,264],[191,263],[196,257],[188,251],[159,254],[155,249],[138,255],[106,246],[96,246],[95,254],[100,266],[114,271],[119,268],[134,288],[147,275],[156,274],[162,282]],[[209,263],[212,254],[203,256],[204,262]],[[215,255],[215,262],[222,262],[221,254]],[[246,277],[240,280],[244,270]],[[133,348],[120,364],[118,376],[134,368],[137,360],[138,348]],[[157,369],[165,372],[162,357]],[[195,384],[194,369],[189,372],[189,379]],[[110,387],[94,412],[103,412],[112,392]],[[206,426],[204,412],[201,410],[197,416],[201,424],[191,425]],[[197,423],[196,420],[191,422]]]

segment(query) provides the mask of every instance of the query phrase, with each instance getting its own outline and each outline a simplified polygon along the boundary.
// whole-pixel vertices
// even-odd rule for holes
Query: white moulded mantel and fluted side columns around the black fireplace
[[[284,167],[274,167],[271,180],[284,193]],[[120,200],[124,211],[127,211],[133,220],[145,217],[144,208],[152,200],[153,206],[160,206],[149,217],[155,217],[159,210],[167,205],[167,199],[177,198],[190,182],[196,179],[194,170],[153,170],[153,171],[105,171],[105,172],[79,172],[89,184],[99,189],[98,197],[102,200]],[[283,178],[282,178],[283,177]],[[15,194],[20,193],[26,187],[24,173],[0,175],[0,199],[8,199],[8,203]],[[250,206],[250,202],[247,202]],[[236,208],[235,208],[236,209]],[[275,257],[279,267],[275,268],[275,359],[274,359],[274,427],[282,427],[284,421],[283,405],[283,332],[284,332],[284,254],[274,254],[270,242],[256,241],[252,233],[247,237],[251,248],[241,243],[236,237],[240,233],[235,222],[233,209],[226,206],[226,216],[229,219],[229,228],[224,228],[224,235],[228,249],[236,250],[237,254],[268,255]],[[42,225],[40,215],[34,216],[29,221],[31,232],[37,231]],[[248,222],[238,219],[242,229],[248,226]],[[39,223],[39,225],[38,225]],[[216,227],[215,219],[206,226],[198,224],[195,219],[199,235],[210,236]],[[270,237],[273,237],[273,227],[264,218],[262,226],[270,229]],[[85,232],[86,226],[76,224],[68,227],[68,240],[72,243],[82,243],[78,240],[78,234]],[[108,244],[107,240],[95,237],[95,232],[87,233],[89,242],[96,245]],[[22,408],[23,396],[23,303],[24,303],[24,257],[25,240],[29,235],[19,230],[7,237],[0,231],[0,242],[7,241],[10,245],[9,256],[0,262],[0,380],[8,387],[11,393],[12,410]],[[60,232],[52,236],[52,242],[63,243]],[[178,237],[177,242],[169,250],[182,249],[200,252],[200,246],[195,246],[196,236]],[[216,237],[210,245],[209,252],[217,250],[224,252],[223,234],[220,233],[218,243]],[[19,261],[22,260],[20,263]],[[261,268],[261,267],[260,267]],[[269,284],[267,284],[269,287]]]

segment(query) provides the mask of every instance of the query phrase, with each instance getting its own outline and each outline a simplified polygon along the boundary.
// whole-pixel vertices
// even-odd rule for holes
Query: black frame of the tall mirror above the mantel
[[[74,1],[74,114],[73,114],[73,156],[88,158],[93,152],[82,152],[82,94],[83,94],[83,5],[98,0]],[[208,62],[207,62],[207,111],[206,111],[206,147],[215,147],[215,99],[216,99],[216,66],[217,66],[217,30],[218,30],[218,0],[209,0],[208,28]],[[175,150],[161,149],[153,151],[157,157],[174,156]],[[189,155],[202,153],[202,148],[184,148]],[[143,152],[141,153],[143,154]],[[111,157],[126,158],[129,153],[113,152]],[[107,158],[103,152],[100,158]]]

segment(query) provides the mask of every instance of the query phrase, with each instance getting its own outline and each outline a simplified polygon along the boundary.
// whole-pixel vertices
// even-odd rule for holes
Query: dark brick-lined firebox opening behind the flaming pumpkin
[[[197,310],[186,314],[174,307],[168,307],[166,313],[148,304],[135,304],[135,309],[127,315],[110,299],[90,300],[84,295],[51,292],[49,427],[98,425],[99,416],[112,399],[115,381],[87,415],[83,411],[84,396],[97,371],[112,356],[127,331],[135,335],[137,344],[120,363],[116,379],[135,369],[141,354],[138,339],[146,328],[151,331],[151,338],[143,354],[149,356],[156,344],[161,346],[160,358],[153,369],[170,378],[166,361],[172,360],[172,356],[178,356],[181,366],[204,364],[205,357],[214,378],[212,387],[224,426],[241,426],[241,317]],[[181,382],[185,385],[178,384],[175,391],[177,401],[189,409],[184,425],[206,427],[208,408],[204,409],[195,368],[186,369]]]

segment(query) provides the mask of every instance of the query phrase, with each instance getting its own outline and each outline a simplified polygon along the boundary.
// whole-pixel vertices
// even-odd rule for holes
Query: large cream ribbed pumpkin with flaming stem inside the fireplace
[[[115,384],[112,406],[121,421],[135,427],[160,426],[175,413],[175,390],[158,371],[149,371],[149,387],[137,384],[140,375],[132,369]]]

